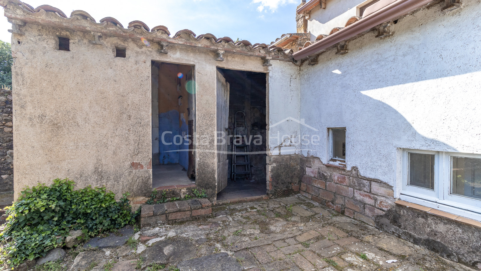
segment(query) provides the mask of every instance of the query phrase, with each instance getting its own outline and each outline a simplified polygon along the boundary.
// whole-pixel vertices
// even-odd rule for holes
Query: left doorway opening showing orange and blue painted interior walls
[[[194,67],[152,61],[152,187],[193,185]]]

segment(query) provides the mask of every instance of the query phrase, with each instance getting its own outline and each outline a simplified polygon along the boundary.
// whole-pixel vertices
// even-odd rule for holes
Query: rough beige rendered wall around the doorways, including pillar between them
[[[91,34],[34,24],[22,29],[25,36],[12,37],[17,193],[69,177],[78,188],[105,185],[117,196],[148,194],[151,60],[156,60],[195,66],[197,140],[203,150],[197,151],[196,185],[215,196],[216,67],[267,72],[262,59],[225,54],[218,62],[214,52],[200,49],[169,46],[169,54],[160,54],[140,41],[104,37],[104,45],[94,45]],[[57,36],[70,38],[70,52],[57,50]],[[126,58],[114,57],[118,45],[127,48]]]

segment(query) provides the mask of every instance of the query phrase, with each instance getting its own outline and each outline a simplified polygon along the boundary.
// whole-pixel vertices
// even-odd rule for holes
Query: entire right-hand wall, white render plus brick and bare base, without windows
[[[399,148],[481,153],[481,34],[473,31],[481,4],[464,0],[448,14],[442,6],[392,23],[390,37],[368,32],[348,43],[349,53],[330,49],[317,65],[301,67],[300,116],[320,136],[320,144],[302,146],[310,163],[301,193],[475,265],[479,242],[466,240],[479,228],[393,204],[401,190]],[[346,170],[325,166],[329,127],[346,127]]]

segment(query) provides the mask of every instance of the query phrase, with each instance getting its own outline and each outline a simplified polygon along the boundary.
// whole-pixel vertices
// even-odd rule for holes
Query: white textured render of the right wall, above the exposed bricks
[[[369,32],[348,54],[330,50],[302,66],[301,118],[323,142],[304,155],[327,163],[327,128],[347,127],[347,168],[394,185],[396,148],[481,153],[481,4],[441,7],[400,19],[389,38]]]

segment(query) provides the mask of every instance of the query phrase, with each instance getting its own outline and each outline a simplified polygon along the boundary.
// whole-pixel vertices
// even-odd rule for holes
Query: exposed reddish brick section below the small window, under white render
[[[305,164],[300,193],[339,213],[375,226],[375,218],[394,204],[391,186],[360,176],[356,167],[347,171],[326,166],[316,158]]]

